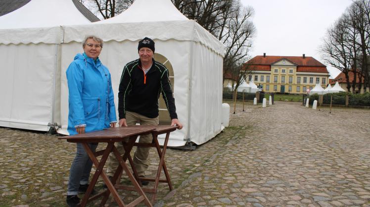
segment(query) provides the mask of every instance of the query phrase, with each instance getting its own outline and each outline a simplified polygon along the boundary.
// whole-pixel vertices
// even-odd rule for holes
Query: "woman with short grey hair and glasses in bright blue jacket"
[[[109,70],[98,58],[103,41],[88,36],[83,42],[83,54],[77,54],[69,65],[66,75],[69,91],[68,133],[70,135],[114,128],[117,122],[112,82]],[[97,143],[89,143],[94,152]],[[80,203],[78,193],[86,192],[93,163],[83,145],[77,143],[67,191],[67,205]]]

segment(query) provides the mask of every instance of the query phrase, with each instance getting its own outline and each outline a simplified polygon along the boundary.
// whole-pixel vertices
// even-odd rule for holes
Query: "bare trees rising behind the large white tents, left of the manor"
[[[80,0],[88,3],[89,0]],[[90,0],[104,19],[126,10],[134,0]],[[231,74],[237,86],[245,80],[243,64],[250,59],[249,50],[256,28],[252,22],[254,10],[240,0],[172,0],[188,19],[218,38],[225,45],[223,76]],[[244,69],[242,68],[244,67]],[[237,88],[237,87],[236,87]]]

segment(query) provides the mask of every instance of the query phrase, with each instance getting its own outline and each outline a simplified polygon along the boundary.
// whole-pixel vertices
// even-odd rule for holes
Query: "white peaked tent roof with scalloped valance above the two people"
[[[96,35],[104,41],[138,41],[147,36],[162,41],[199,42],[217,54],[225,55],[224,44],[194,20],[187,19],[171,0],[136,0],[116,17],[93,24],[68,25],[64,31],[64,43],[82,42],[84,35]]]

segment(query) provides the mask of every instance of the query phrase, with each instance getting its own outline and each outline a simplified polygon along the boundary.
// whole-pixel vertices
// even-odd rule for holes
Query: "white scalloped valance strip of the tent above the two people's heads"
[[[209,47],[221,56],[225,55],[224,45],[194,20],[110,24],[94,23],[89,25],[70,25],[63,28],[65,30],[64,43],[72,41],[82,42],[85,35],[91,35],[93,31],[94,35],[101,37],[104,41],[138,41],[145,36],[162,41],[169,39],[195,41]]]

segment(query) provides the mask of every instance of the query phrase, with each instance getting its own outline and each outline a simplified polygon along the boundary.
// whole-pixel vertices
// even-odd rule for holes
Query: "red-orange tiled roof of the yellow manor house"
[[[313,57],[302,56],[256,56],[246,62],[250,64],[248,70],[271,70],[271,65],[279,60],[286,59],[297,65],[298,72],[325,72],[328,73],[326,66]]]

